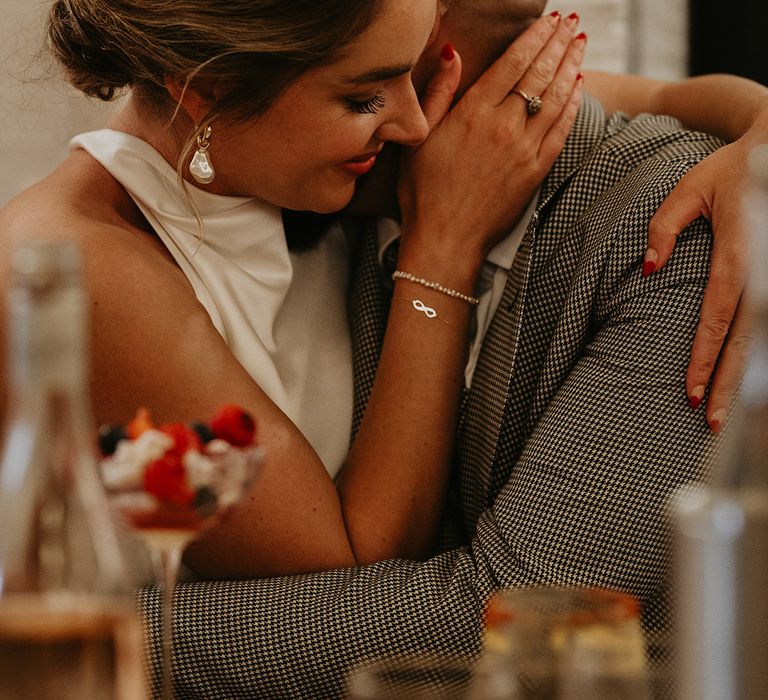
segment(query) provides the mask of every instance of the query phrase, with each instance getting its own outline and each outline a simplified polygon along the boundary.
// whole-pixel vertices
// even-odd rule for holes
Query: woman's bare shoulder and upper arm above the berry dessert
[[[100,419],[131,415],[137,401],[160,412],[183,407],[193,377],[204,375],[206,389],[213,384],[205,373],[192,372],[200,357],[210,358],[206,367],[232,371],[236,361],[130,197],[79,156],[0,213],[0,296],[8,291],[15,249],[60,239],[74,241],[83,253]],[[3,326],[0,314],[0,337]]]

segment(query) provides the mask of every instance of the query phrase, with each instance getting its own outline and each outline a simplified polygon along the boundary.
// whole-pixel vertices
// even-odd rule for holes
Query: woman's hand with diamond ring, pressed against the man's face
[[[445,90],[427,91],[431,132],[404,156],[399,185],[406,269],[429,277],[453,261],[474,275],[525,211],[578,112],[585,37],[572,27],[538,20],[450,111]],[[540,95],[541,110],[513,89]]]

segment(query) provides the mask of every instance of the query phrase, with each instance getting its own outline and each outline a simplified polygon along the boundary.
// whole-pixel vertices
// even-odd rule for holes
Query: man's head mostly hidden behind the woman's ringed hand
[[[535,19],[547,0],[449,0],[440,28],[413,71],[418,90],[435,72],[440,51],[451,43],[462,60],[462,94]],[[395,196],[398,149],[387,147],[373,172],[358,180],[350,211],[396,216]]]

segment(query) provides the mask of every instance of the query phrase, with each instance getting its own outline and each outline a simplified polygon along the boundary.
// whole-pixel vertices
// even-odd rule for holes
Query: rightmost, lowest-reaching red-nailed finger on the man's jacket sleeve
[[[707,422],[715,433],[719,433],[725,424],[728,408],[736,395],[747,365],[750,324],[746,316],[742,305],[739,305],[720,353],[715,378],[707,399]]]

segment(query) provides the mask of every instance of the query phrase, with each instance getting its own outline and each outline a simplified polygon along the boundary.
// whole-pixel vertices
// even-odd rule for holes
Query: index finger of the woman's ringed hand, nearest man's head
[[[546,15],[526,29],[467,91],[491,105],[500,104],[525,75],[560,23],[559,15]]]

